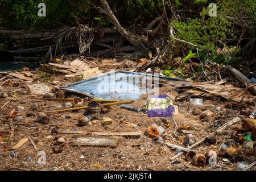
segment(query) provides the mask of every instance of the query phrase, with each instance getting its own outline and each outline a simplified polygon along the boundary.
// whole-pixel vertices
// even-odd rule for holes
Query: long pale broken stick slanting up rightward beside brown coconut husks
[[[213,131],[213,132],[210,133],[209,135],[207,135],[207,136],[201,138],[199,141],[197,141],[196,143],[192,144],[192,146],[189,146],[188,148],[191,149],[191,148],[193,148],[193,147],[198,146],[199,144],[201,144],[202,142],[204,142],[205,138],[210,137],[211,135],[216,134],[216,133],[218,133],[218,132],[220,132],[220,131],[226,129],[226,127],[231,126],[231,125],[233,125],[234,123],[236,123],[236,122],[238,122],[238,121],[240,121],[240,118],[238,118],[238,117],[232,119],[231,121],[229,121],[229,122],[225,123],[224,125],[222,125],[221,127],[219,127],[216,131]],[[180,152],[179,154],[173,156],[170,160],[174,160],[174,159],[178,158],[181,154],[183,154],[183,152]]]

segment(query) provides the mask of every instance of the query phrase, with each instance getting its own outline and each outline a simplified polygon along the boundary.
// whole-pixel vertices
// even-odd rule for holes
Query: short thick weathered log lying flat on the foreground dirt
[[[102,137],[102,136],[85,136],[71,140],[71,144],[75,146],[96,146],[117,148],[119,137]]]

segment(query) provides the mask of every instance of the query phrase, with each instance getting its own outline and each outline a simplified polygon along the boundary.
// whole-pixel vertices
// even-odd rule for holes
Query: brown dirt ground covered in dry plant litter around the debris
[[[161,118],[150,118],[147,114],[137,113],[121,109],[120,106],[111,106],[109,113],[98,114],[100,117],[109,117],[113,119],[111,125],[102,125],[101,122],[92,122],[86,126],[77,125],[78,111],[65,111],[63,113],[49,114],[49,123],[34,122],[36,116],[27,117],[28,111],[35,113],[56,109],[56,106],[63,105],[67,101],[48,101],[40,100],[33,96],[28,89],[28,84],[37,84],[39,82],[48,82],[52,86],[61,86],[71,84],[77,81],[77,78],[65,78],[61,75],[52,75],[42,78],[42,73],[39,71],[33,72],[38,79],[32,82],[19,80],[18,78],[10,77],[9,81],[2,80],[1,86],[4,92],[9,94],[7,98],[0,98],[0,106],[12,97],[11,94],[17,93],[16,97],[9,102],[0,112],[0,169],[1,170],[240,170],[237,167],[237,162],[245,162],[251,164],[255,162],[254,154],[241,154],[232,158],[218,155],[217,164],[207,164],[204,167],[197,167],[187,159],[185,154],[180,155],[175,160],[171,160],[176,155],[175,148],[171,148],[166,144],[156,143],[153,139],[141,135],[139,137],[119,137],[117,148],[109,147],[88,147],[88,146],[72,146],[69,141],[76,137],[82,137],[82,134],[61,134],[61,131],[78,131],[101,132],[101,133],[122,133],[144,131],[149,126],[163,126],[164,132],[160,136],[166,143],[172,143],[179,146],[184,146],[183,140],[186,134],[181,131],[176,131],[174,135],[175,125],[172,118],[167,118],[170,121],[169,126],[164,125]],[[53,82],[55,81],[55,82]],[[10,83],[13,84],[10,84]],[[53,84],[54,83],[54,84]],[[26,91],[26,92],[24,92]],[[172,96],[177,96],[176,90],[164,87],[160,89],[160,93],[168,93]],[[142,98],[137,103],[131,104],[134,106],[143,106],[146,103],[146,97]],[[85,105],[88,104],[85,103]],[[235,117],[240,119],[246,118],[240,115],[237,108],[233,108],[235,104],[226,104],[226,101],[220,99],[207,100],[204,98],[204,106],[201,110],[213,111],[214,116],[201,120],[199,116],[191,113],[192,106],[188,101],[174,101],[174,105],[179,106],[179,114],[175,114],[174,118],[179,126],[191,126],[191,131],[196,135],[197,140],[216,131],[218,127],[232,120]],[[16,113],[24,118],[23,121],[14,121],[14,117],[10,117],[10,113],[15,106],[23,106],[24,111]],[[221,110],[216,110],[217,107]],[[144,106],[143,106],[144,107]],[[15,115],[15,116],[16,116]],[[241,123],[242,121],[240,121]],[[57,133],[52,133],[52,128],[57,128]],[[213,135],[216,138],[216,143],[211,145],[201,143],[193,148],[196,153],[204,154],[209,150],[219,152],[219,148],[223,142],[230,139],[234,131],[229,127],[224,131]],[[55,137],[64,138],[65,143],[63,150],[55,154],[53,153],[53,139]],[[35,147],[28,139],[26,143],[16,150],[10,148],[15,146],[21,139],[30,138],[34,141]],[[244,144],[244,143],[243,143]],[[243,146],[242,144],[242,146]],[[244,149],[244,148],[243,148]],[[14,151],[18,156],[11,155]],[[38,151],[46,153],[46,165],[38,163]],[[255,150],[254,150],[255,151]],[[228,159],[228,160],[225,160]],[[225,160],[225,161],[224,161]],[[249,170],[255,171],[256,166]]]

